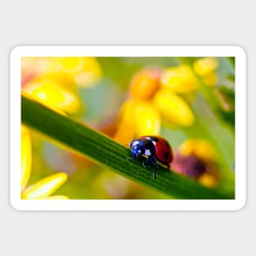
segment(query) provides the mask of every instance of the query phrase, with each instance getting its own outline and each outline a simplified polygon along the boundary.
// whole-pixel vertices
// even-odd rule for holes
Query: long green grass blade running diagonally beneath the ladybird
[[[75,150],[101,166],[128,177],[170,197],[179,199],[233,199],[233,194],[201,186],[189,177],[184,177],[159,167],[155,180],[152,170],[142,167],[141,160],[129,159],[130,150],[101,134],[60,115],[37,101],[25,96],[21,99],[21,120],[29,128],[34,128],[56,142]]]

